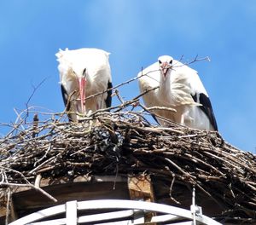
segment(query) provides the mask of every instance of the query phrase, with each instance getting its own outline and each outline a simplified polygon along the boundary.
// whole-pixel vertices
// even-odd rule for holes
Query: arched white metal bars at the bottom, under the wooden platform
[[[19,220],[16,220],[15,222],[9,223],[9,225],[25,225],[25,224],[31,224],[34,222],[34,224],[38,225],[44,225],[44,224],[54,224],[54,225],[60,225],[63,224],[63,221],[66,221],[68,225],[74,225],[77,224],[77,222],[85,222],[86,220],[90,219],[90,216],[80,216],[79,219],[77,219],[77,211],[79,210],[118,210],[122,209],[125,211],[118,211],[118,212],[109,212],[105,213],[105,215],[108,215],[108,218],[112,216],[113,219],[115,218],[125,218],[125,216],[133,216],[135,211],[154,211],[154,212],[160,212],[160,213],[166,213],[165,216],[154,216],[152,218],[152,222],[156,220],[157,222],[161,222],[160,218],[162,219],[170,219],[169,221],[177,221],[175,224],[191,224],[189,222],[186,223],[178,223],[179,219],[187,218],[192,222],[193,215],[191,214],[191,211],[180,209],[171,205],[163,205],[163,204],[157,204],[152,202],[144,202],[144,201],[133,201],[133,200],[89,200],[89,201],[71,201],[67,202],[66,205],[57,205],[50,207],[48,209],[38,211],[35,213],[32,213],[31,215],[24,216],[20,218]],[[48,218],[49,216],[55,216],[61,213],[64,213],[67,211],[67,219],[56,219],[48,222],[37,222],[40,219]],[[92,215],[91,218],[94,217],[96,221],[101,221],[102,218],[100,216],[104,216],[104,213],[100,213],[97,215]],[[118,216],[118,217],[116,217]],[[201,222],[203,224],[210,224],[210,225],[220,225],[221,223],[216,222],[212,220],[208,216],[196,216],[195,215],[196,222]],[[51,223],[52,222],[52,223]],[[107,221],[106,221],[107,222]],[[129,224],[135,224],[135,221],[128,220],[126,221]],[[139,221],[136,222],[140,223]],[[118,224],[118,223],[117,223]],[[119,223],[120,224],[120,223]]]

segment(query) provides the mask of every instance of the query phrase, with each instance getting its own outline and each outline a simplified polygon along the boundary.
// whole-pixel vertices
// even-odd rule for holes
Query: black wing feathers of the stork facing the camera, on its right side
[[[200,93],[200,94],[192,95],[192,98],[194,99],[195,102],[198,102],[201,104],[200,106],[201,110],[204,113],[206,113],[207,117],[209,118],[212,124],[213,129],[218,131],[217,122],[212,110],[212,104],[209,97],[203,93]]]

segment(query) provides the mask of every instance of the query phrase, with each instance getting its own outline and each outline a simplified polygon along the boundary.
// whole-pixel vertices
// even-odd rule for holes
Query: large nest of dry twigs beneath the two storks
[[[218,132],[177,124],[163,128],[148,123],[141,112],[121,111],[123,107],[114,113],[99,111],[82,123],[61,118],[40,122],[35,117],[31,123],[13,124],[0,139],[2,195],[15,187],[38,188],[34,186],[38,174],[146,172],[172,186],[176,182],[195,186],[224,205],[223,217],[255,219],[255,155],[230,146]]]

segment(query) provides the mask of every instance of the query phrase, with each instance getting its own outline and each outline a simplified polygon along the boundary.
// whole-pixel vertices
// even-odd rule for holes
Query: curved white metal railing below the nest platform
[[[193,208],[193,207],[192,207]],[[87,214],[86,211],[96,210],[96,214]],[[103,210],[108,210],[104,212]],[[112,211],[111,211],[112,210]],[[152,202],[135,200],[88,200],[69,201],[63,205],[57,205],[48,209],[34,212],[24,216],[9,225],[75,225],[75,224],[143,224],[146,212],[155,212],[160,216],[152,216],[149,222],[172,222],[175,225],[187,224],[211,224],[221,223],[212,220],[208,216],[203,216],[192,211],[184,210],[171,205],[163,205]],[[78,212],[83,211],[84,216],[78,216]],[[84,213],[85,211],[85,213]],[[103,211],[103,212],[102,212]],[[51,216],[66,213],[66,217],[50,219]],[[61,216],[61,215],[60,215]],[[49,218],[49,220],[47,220]],[[147,221],[148,222],[148,221]],[[168,223],[165,223],[168,224]]]

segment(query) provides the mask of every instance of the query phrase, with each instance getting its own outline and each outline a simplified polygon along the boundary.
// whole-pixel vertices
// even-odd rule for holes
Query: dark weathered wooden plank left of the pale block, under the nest
[[[114,187],[114,188],[113,188]],[[126,182],[75,182],[44,187],[44,191],[58,200],[53,203],[36,190],[14,194],[17,211],[32,209],[37,211],[52,205],[60,205],[71,200],[129,199]]]

